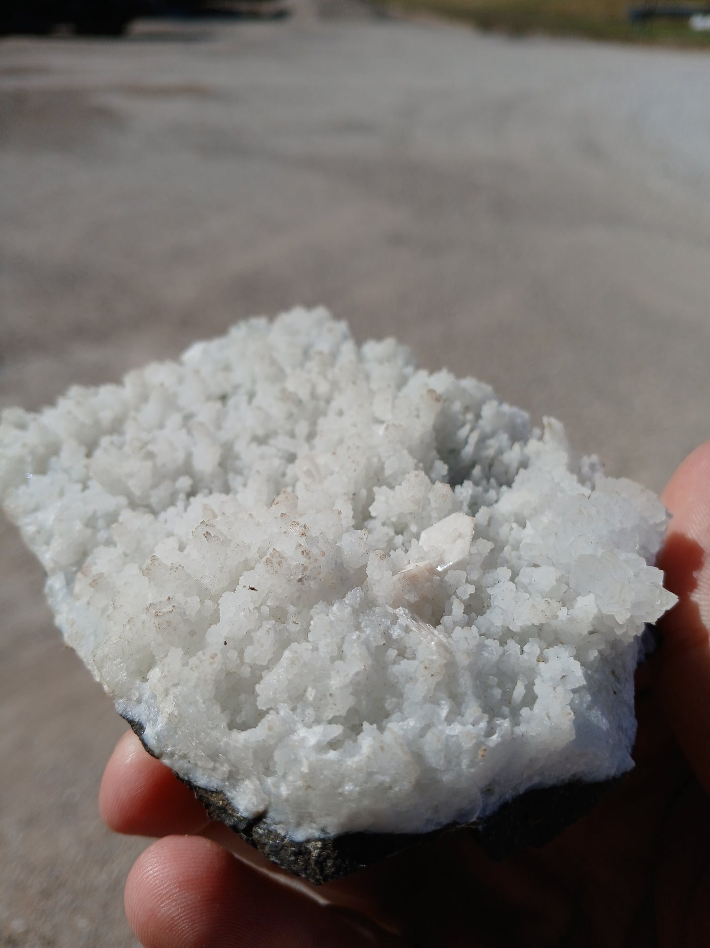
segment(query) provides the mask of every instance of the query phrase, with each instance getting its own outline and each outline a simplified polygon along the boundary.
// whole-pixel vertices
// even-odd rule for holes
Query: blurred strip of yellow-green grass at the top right
[[[430,13],[510,35],[583,36],[659,46],[710,48],[710,32],[695,32],[681,20],[632,24],[632,0],[389,0],[408,13]]]

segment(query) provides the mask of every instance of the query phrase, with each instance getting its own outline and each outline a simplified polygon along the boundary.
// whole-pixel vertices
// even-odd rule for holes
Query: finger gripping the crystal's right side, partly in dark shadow
[[[657,686],[675,738],[710,793],[710,442],[683,461],[664,502],[673,518],[659,566],[679,601],[661,623]]]

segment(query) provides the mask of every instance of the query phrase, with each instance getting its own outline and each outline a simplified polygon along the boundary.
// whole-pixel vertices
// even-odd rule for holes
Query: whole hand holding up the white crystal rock
[[[121,738],[100,791],[117,832],[160,837],[126,884],[146,948],[700,948],[710,944],[710,442],[664,494],[680,596],[637,674],[636,769],[553,843],[491,863],[466,831],[316,889],[210,824]]]

